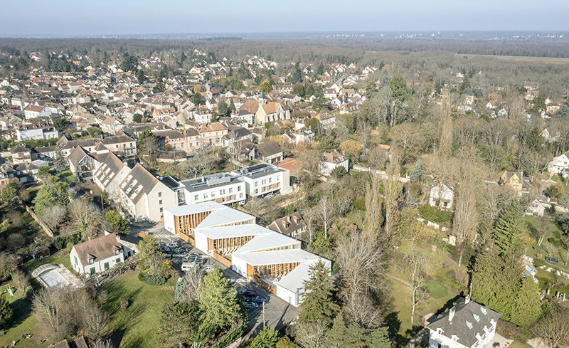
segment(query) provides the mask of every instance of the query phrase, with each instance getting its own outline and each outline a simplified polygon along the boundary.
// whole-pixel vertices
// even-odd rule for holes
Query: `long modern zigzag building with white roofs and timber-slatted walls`
[[[331,270],[331,261],[302,250],[297,239],[216,202],[167,209],[164,227],[294,306],[302,302],[312,265],[322,261]]]

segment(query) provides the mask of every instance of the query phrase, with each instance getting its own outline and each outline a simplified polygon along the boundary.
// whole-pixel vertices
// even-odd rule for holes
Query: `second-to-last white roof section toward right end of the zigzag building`
[[[252,266],[276,265],[279,263],[304,263],[318,260],[319,256],[302,249],[285,249],[275,251],[257,251],[251,253],[233,253],[232,258],[239,258]]]

